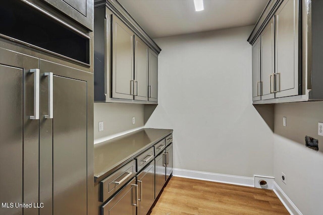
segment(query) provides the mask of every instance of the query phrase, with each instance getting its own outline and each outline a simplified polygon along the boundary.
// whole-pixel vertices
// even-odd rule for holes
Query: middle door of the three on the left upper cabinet
[[[135,100],[148,100],[148,46],[135,36]]]

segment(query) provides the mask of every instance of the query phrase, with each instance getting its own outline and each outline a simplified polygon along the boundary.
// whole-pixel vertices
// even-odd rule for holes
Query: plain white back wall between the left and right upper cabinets
[[[145,127],[174,129],[174,168],[273,175],[273,132],[251,104],[251,30],[155,40],[159,104]]]

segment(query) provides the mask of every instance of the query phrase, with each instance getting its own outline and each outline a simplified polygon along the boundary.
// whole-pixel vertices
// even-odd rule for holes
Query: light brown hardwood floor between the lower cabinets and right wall
[[[272,190],[173,177],[150,214],[289,213]]]

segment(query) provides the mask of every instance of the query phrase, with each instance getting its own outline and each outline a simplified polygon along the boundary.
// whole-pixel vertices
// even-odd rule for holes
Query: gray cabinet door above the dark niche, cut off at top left
[[[30,0],[29,0],[30,1]],[[93,30],[93,0],[43,0],[89,30]]]

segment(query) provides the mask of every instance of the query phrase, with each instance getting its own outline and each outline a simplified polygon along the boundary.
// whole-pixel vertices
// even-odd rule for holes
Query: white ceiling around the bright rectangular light
[[[254,25],[268,0],[118,0],[151,38]]]

